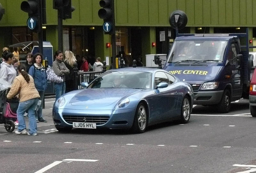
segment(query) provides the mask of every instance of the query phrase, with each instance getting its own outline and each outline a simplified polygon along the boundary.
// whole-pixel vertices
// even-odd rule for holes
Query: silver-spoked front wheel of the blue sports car
[[[147,110],[143,103],[140,103],[136,109],[132,131],[134,133],[144,133],[147,127]]]

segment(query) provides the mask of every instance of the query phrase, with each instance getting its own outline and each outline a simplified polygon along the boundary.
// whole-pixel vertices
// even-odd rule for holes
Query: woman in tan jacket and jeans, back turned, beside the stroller
[[[19,76],[14,79],[14,82],[7,95],[7,99],[17,97],[19,94],[19,107],[17,109],[17,119],[19,121],[17,135],[37,135],[37,123],[35,120],[35,108],[38,103],[39,93],[35,88],[34,80],[26,72],[24,64],[18,66]],[[21,74],[21,75],[20,75]],[[29,131],[27,132],[24,113],[28,112],[29,116]]]

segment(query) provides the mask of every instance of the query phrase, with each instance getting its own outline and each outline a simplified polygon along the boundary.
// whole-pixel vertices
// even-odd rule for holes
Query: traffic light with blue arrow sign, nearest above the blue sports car
[[[103,30],[107,34],[114,34],[114,0],[100,0],[102,7],[98,11],[99,18],[103,19]]]

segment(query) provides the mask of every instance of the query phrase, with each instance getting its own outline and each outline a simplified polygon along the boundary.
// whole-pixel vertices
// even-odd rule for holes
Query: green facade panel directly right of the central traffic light
[[[128,23],[128,3],[127,0],[116,1],[116,22],[118,24]]]

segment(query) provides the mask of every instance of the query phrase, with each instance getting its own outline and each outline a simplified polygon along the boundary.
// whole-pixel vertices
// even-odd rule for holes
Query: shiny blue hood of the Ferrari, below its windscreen
[[[139,91],[138,89],[83,89],[70,100],[70,104],[104,107],[116,104],[123,97]]]

